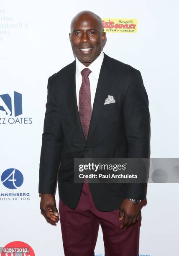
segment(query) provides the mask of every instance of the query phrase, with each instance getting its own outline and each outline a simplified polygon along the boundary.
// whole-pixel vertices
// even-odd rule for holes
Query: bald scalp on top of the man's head
[[[97,14],[91,11],[84,10],[77,13],[77,15],[75,15],[74,18],[72,18],[71,25],[70,25],[71,33],[73,31],[74,23],[78,23],[81,20],[89,20],[89,19],[90,20],[93,19],[96,22],[97,27],[99,27],[99,29],[103,31],[102,20],[100,16],[98,16]]]

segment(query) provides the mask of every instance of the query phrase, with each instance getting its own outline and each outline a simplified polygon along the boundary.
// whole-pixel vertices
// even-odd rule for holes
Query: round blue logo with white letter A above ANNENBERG
[[[9,189],[17,189],[23,184],[23,174],[18,169],[7,169],[1,175],[3,185]]]

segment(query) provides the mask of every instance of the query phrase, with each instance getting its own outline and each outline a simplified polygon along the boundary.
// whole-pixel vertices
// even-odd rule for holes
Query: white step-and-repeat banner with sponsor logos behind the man
[[[64,255],[60,221],[40,211],[38,171],[47,80],[74,60],[70,22],[79,11],[102,18],[107,55],[141,71],[151,158],[179,157],[178,9],[174,0],[0,0],[0,247],[29,249],[2,255]],[[139,255],[178,255],[177,182],[148,184]],[[105,255],[101,228],[95,255]]]

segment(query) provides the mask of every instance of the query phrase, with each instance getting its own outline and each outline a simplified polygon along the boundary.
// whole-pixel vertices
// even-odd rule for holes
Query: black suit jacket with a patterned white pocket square
[[[148,158],[149,154],[148,96],[141,73],[104,54],[85,141],[75,70],[73,61],[48,80],[38,190],[54,194],[58,176],[59,197],[72,209],[83,185],[74,183],[74,158]],[[116,102],[104,105],[108,95]],[[118,209],[124,197],[146,198],[145,184],[90,184],[90,190],[101,211]]]

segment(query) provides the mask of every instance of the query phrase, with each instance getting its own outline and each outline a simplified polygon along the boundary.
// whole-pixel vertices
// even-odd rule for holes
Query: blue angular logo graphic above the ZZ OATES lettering
[[[13,100],[8,94],[0,95],[1,104],[0,110],[5,111],[6,115],[14,116],[22,115],[22,94],[14,91],[14,104]],[[14,110],[14,111],[13,111]]]

